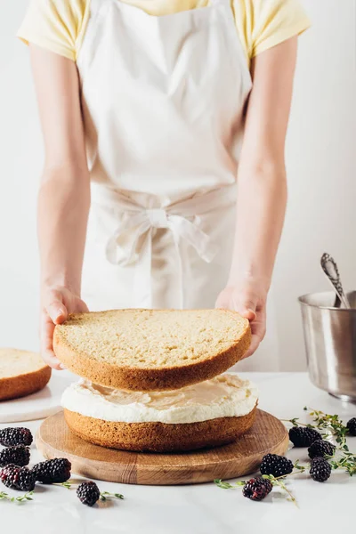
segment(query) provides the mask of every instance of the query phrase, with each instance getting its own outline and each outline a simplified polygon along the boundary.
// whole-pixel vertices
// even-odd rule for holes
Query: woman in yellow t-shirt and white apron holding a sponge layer
[[[255,352],[308,25],[297,0],[32,0],[19,36],[44,131],[49,365],[61,368],[54,325],[87,306],[229,308],[251,321]]]

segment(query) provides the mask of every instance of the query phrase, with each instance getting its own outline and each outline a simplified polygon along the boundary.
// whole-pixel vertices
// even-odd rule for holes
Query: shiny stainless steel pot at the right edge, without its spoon
[[[335,293],[299,297],[312,383],[343,401],[356,402],[356,291],[351,310],[335,308]]]

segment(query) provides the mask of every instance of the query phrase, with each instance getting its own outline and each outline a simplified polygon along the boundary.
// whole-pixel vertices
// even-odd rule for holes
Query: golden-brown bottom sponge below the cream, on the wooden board
[[[241,417],[218,417],[200,423],[120,423],[86,417],[64,409],[70,430],[85,441],[111,449],[178,452],[218,447],[247,433],[256,408]]]

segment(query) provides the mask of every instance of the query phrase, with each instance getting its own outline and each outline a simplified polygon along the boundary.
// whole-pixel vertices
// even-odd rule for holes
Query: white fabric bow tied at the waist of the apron
[[[151,308],[153,305],[151,280],[153,231],[155,229],[171,231],[177,255],[178,298],[174,307],[182,309],[184,264],[180,243],[182,240],[189,243],[206,263],[214,259],[217,247],[199,228],[198,215],[236,202],[236,184],[187,198],[166,208],[146,208],[136,204],[132,198],[125,197],[120,191],[109,190],[102,186],[94,188],[92,186],[92,192],[93,190],[96,203],[102,207],[111,206],[117,214],[124,213],[116,230],[109,237],[105,252],[109,263],[123,267],[135,266],[133,295],[135,306],[138,308]]]

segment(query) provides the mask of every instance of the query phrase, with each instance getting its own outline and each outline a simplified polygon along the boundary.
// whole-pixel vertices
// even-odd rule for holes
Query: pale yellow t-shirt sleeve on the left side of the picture
[[[89,16],[89,0],[30,0],[17,36],[76,61]]]

